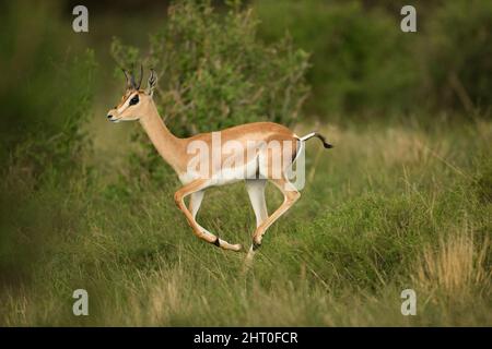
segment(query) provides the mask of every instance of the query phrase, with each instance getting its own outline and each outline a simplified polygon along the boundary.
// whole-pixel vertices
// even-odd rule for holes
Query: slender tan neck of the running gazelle
[[[181,172],[180,159],[183,159],[183,140],[176,137],[162,121],[157,108],[153,103],[149,104],[145,116],[140,118],[140,123],[145,130],[159,154],[173,167],[176,172]]]

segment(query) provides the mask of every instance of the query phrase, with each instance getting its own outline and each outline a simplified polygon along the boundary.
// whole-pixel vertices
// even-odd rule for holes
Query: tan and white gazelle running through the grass
[[[301,196],[285,172],[295,161],[304,142],[311,137],[318,137],[325,148],[330,148],[331,145],[317,132],[298,137],[288,128],[272,122],[246,123],[220,131],[218,133],[221,137],[219,148],[213,144],[215,133],[200,133],[187,139],[176,137],[164,124],[152,98],[157,83],[155,72],[151,70],[147,91],[140,89],[142,69],[138,84],[132,73],[125,70],[124,73],[127,79],[126,93],[119,105],[108,111],[107,119],[113,122],[140,121],[159,154],[176,171],[183,183],[175,193],[174,200],[198,238],[224,250],[242,250],[241,244],[231,244],[201,227],[196,221],[196,216],[208,188],[245,180],[256,216],[256,230],[247,255],[250,260],[260,246],[267,229]],[[278,146],[269,147],[271,143]],[[231,147],[227,144],[235,146]],[[200,167],[204,168],[204,171],[198,171],[196,167],[190,166],[197,159],[190,149],[192,151],[197,145],[204,145],[216,155],[215,159],[213,156],[202,158]],[[231,148],[236,151],[233,155],[231,155]],[[288,156],[283,156],[285,154]],[[276,161],[279,157],[281,160]],[[283,203],[270,216],[265,201],[267,181],[272,182],[284,196]],[[185,204],[187,196],[190,196],[189,207]]]

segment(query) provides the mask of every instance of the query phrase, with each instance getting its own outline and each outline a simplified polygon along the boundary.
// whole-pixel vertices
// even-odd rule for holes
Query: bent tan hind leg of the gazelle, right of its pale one
[[[282,192],[283,203],[256,229],[255,234],[253,236],[253,251],[260,246],[261,239],[267,229],[301,197],[301,193],[288,179],[270,179],[270,181]]]

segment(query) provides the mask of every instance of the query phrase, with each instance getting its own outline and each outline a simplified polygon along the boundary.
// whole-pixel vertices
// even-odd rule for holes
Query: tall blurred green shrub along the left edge
[[[48,240],[81,217],[70,185],[87,174],[95,59],[69,51],[57,4],[15,1],[0,12],[9,28],[0,32],[0,292],[27,279]]]

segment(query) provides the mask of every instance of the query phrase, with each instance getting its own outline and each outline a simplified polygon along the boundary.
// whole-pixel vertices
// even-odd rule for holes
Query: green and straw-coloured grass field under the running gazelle
[[[491,326],[492,123],[324,133],[336,147],[309,142],[301,200],[246,276],[244,254],[194,237],[174,205],[173,174],[142,180],[97,147],[90,171],[37,190],[12,168],[2,184],[0,324]],[[269,212],[280,202],[269,186]],[[198,219],[244,245],[255,225],[242,184],[210,190]],[[78,288],[89,291],[89,316],[72,315]],[[407,288],[415,316],[400,313]]]

